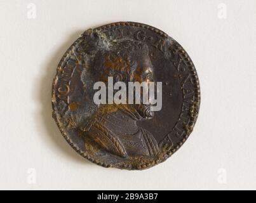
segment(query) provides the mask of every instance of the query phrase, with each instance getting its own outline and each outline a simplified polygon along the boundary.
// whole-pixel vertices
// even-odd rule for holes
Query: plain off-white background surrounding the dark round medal
[[[255,9],[254,0],[1,0],[0,188],[256,189]],[[201,84],[189,140],[145,171],[92,164],[51,118],[51,82],[65,50],[84,30],[119,21],[147,23],[176,39]]]

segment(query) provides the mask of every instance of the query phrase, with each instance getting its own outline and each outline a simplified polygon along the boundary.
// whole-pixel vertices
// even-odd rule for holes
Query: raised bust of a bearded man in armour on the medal
[[[108,77],[112,77],[114,83],[125,82],[127,87],[128,82],[154,81],[154,67],[147,45],[133,40],[107,44],[100,36],[93,37],[90,48],[93,43],[97,47],[86,51],[95,56],[86,58],[86,69],[81,68],[83,88],[90,86],[90,89],[83,89],[84,100],[79,105],[79,112],[84,112],[84,115],[74,115],[76,123],[79,121],[81,134],[84,139],[91,140],[91,145],[98,145],[119,157],[158,154],[159,146],[154,136],[137,126],[137,121],[152,119],[154,116],[150,103],[95,105],[91,98],[94,93],[91,89],[93,82],[102,81],[107,86]],[[81,55],[77,58],[84,60]],[[91,112],[90,115],[88,112]]]

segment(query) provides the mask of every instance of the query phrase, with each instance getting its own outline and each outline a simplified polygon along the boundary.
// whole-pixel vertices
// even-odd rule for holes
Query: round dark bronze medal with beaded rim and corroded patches
[[[93,84],[163,82],[163,108],[95,105]],[[53,118],[76,152],[104,167],[146,169],[166,160],[192,132],[199,110],[194,65],[172,37],[149,25],[111,23],[86,30],[57,68]]]

